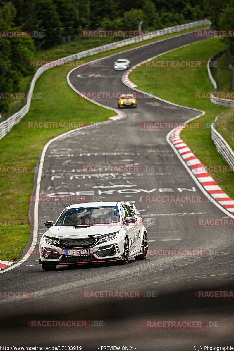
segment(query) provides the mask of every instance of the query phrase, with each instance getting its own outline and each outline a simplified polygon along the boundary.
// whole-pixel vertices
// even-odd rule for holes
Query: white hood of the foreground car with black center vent
[[[52,226],[44,234],[52,238],[83,238],[88,235],[105,235],[118,232],[121,229],[121,225],[116,223],[112,225],[91,225],[83,228],[78,226]]]

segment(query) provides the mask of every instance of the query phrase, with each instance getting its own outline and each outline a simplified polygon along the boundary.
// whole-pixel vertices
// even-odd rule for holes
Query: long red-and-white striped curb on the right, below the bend
[[[180,138],[180,132],[183,128],[184,127],[177,128],[174,132],[172,132],[169,140],[172,142],[183,161],[185,161],[209,196],[217,201],[219,205],[224,207],[226,211],[234,214],[234,200],[231,199],[224,191],[222,191],[216,181],[214,181],[214,179],[205,171],[205,166],[198,158],[195,157],[188,145],[186,145]]]

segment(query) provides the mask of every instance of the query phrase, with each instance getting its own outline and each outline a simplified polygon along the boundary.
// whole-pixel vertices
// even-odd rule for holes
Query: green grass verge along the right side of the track
[[[219,38],[207,39],[191,44],[171,53],[161,55],[158,60],[203,60],[208,61],[214,54],[224,49]],[[206,112],[196,122],[208,122],[227,108],[216,106],[209,99],[195,99],[194,92],[210,92],[213,86],[208,78],[207,67],[201,68],[160,68],[140,66],[134,69],[129,79],[138,85],[140,90],[152,93],[162,99],[176,104],[199,108]],[[210,128],[188,129],[181,132],[181,138],[206,166],[226,166],[226,162],[215,148],[211,139]],[[234,197],[234,173],[209,172],[223,191]]]

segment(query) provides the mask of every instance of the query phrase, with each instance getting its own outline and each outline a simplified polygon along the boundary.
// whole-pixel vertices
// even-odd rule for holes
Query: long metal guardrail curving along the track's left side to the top
[[[195,27],[206,26],[206,25],[210,25],[210,24],[211,24],[211,22],[209,20],[202,20],[202,21],[196,21],[196,22],[189,22],[189,23],[182,24],[179,26],[160,29],[159,31],[154,31],[154,32],[151,32],[148,34],[143,34],[141,37],[124,39],[124,40],[117,41],[117,42],[114,42],[111,44],[106,44],[106,45],[98,46],[98,47],[93,48],[93,49],[81,51],[79,53],[76,53],[76,54],[73,54],[73,55],[70,55],[67,57],[63,57],[62,59],[55,60],[49,64],[46,64],[46,65],[40,67],[36,71],[36,73],[34,74],[34,77],[31,81],[31,85],[30,85],[29,92],[28,92],[29,98],[27,99],[25,106],[22,107],[21,110],[19,110],[15,114],[13,114],[11,117],[9,117],[7,120],[0,123],[0,139],[3,138],[11,130],[11,128],[15,124],[19,123],[19,121],[28,113],[36,80],[40,77],[40,75],[43,72],[47,71],[48,69],[53,68],[53,67],[58,67],[58,66],[64,64],[65,62],[78,60],[78,59],[81,59],[81,58],[89,56],[89,55],[94,55],[94,54],[97,54],[100,52],[108,51],[108,50],[111,50],[114,48],[133,44],[136,42],[144,41],[144,40],[147,40],[150,38],[161,37],[162,35],[165,35],[165,34],[176,33],[176,32],[180,32],[180,31],[185,30],[185,29],[192,29]]]

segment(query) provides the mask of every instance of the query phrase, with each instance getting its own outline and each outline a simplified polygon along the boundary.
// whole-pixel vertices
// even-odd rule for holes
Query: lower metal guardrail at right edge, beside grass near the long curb
[[[227,164],[230,167],[232,167],[232,170],[234,171],[234,152],[228,145],[227,141],[215,129],[215,122],[218,118],[219,116],[217,116],[215,118],[215,121],[211,124],[211,139],[214,141],[216,149],[220,153],[222,158],[227,162]]]

